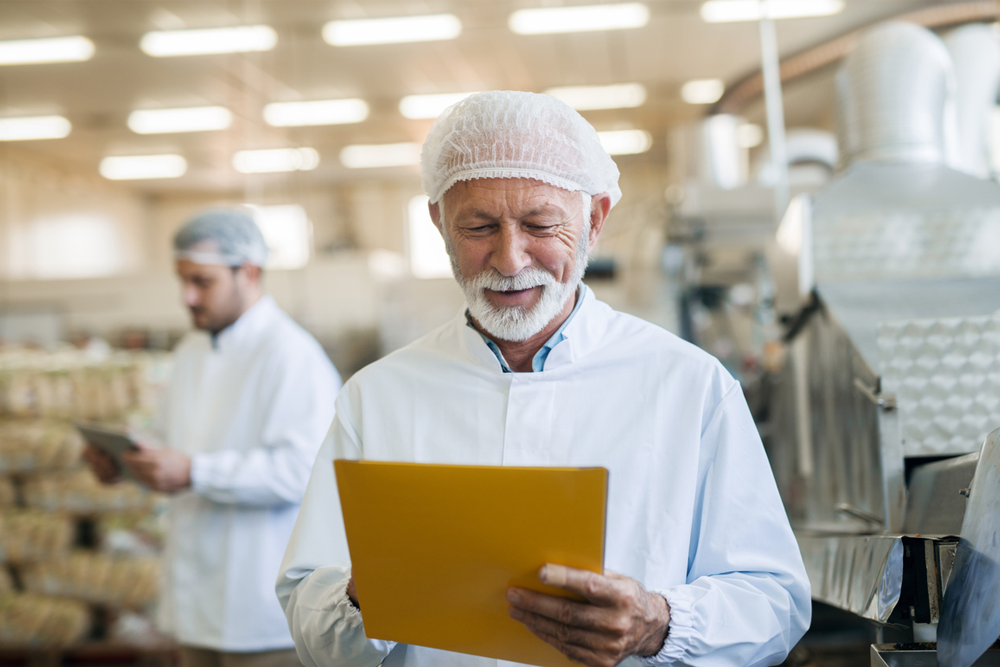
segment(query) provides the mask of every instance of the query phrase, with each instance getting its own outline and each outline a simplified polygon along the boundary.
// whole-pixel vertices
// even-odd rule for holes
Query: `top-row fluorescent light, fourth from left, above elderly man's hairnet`
[[[507,20],[510,29],[519,35],[621,30],[641,28],[647,23],[649,8],[641,2],[519,9]]]

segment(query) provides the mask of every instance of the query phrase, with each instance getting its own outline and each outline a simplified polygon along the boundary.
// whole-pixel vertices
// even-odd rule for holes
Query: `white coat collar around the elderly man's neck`
[[[612,310],[607,304],[597,300],[594,292],[580,284],[580,297],[583,304],[573,318],[563,329],[563,340],[556,344],[545,360],[543,373],[568,366],[582,358],[600,345],[608,328]],[[458,339],[461,341],[462,352],[470,361],[478,366],[488,368],[497,373],[503,373],[500,361],[489,346],[483,341],[479,332],[468,326],[465,317],[467,306],[463,306],[455,318],[453,325],[458,327]],[[517,375],[528,375],[518,373]]]

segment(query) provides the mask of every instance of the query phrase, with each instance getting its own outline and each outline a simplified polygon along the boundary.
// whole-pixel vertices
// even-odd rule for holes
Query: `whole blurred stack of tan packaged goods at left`
[[[167,359],[0,350],[0,649],[78,647],[151,627],[164,500],[101,485],[73,423],[148,424]]]

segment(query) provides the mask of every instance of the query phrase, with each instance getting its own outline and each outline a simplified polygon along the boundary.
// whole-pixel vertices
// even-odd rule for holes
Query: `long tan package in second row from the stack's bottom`
[[[18,574],[31,593],[137,609],[156,600],[160,566],[151,558],[80,550],[18,568]]]

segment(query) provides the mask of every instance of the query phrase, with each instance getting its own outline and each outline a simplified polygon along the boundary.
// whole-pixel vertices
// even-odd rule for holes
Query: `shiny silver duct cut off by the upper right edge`
[[[948,33],[944,43],[955,68],[956,150],[949,166],[978,178],[990,177],[990,115],[1000,93],[1000,37],[983,24]]]

